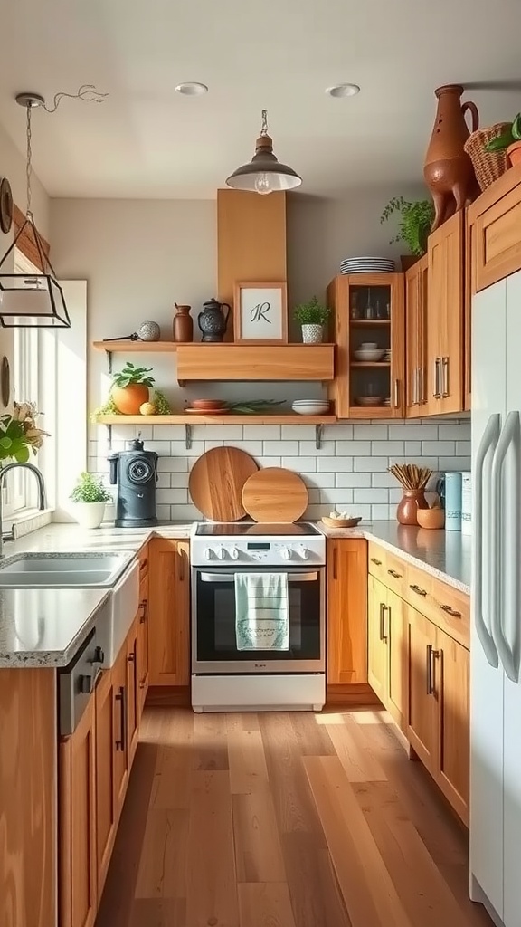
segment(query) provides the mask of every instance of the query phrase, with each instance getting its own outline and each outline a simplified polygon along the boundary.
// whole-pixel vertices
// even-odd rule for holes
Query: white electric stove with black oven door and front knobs
[[[325,701],[325,538],[308,522],[199,523],[191,534],[194,711],[315,710]],[[235,637],[235,575],[283,573],[286,650]]]

